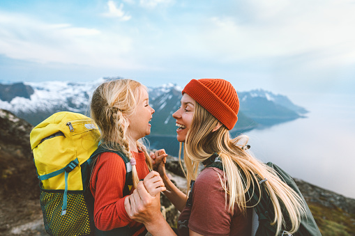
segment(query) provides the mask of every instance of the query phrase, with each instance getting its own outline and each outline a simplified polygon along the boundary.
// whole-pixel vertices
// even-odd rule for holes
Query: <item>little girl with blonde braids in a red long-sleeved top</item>
[[[106,81],[94,91],[90,113],[100,128],[101,146],[107,149],[96,156],[91,173],[96,235],[123,235],[123,227],[128,235],[145,235],[144,225],[130,219],[123,205],[127,197],[123,196],[126,165],[119,155],[128,158],[132,166],[131,192],[145,177],[144,184],[150,189],[151,196],[165,190],[159,174],[149,173],[151,158],[139,141],[150,134],[149,121],[154,113],[149,106],[147,89],[131,79]]]

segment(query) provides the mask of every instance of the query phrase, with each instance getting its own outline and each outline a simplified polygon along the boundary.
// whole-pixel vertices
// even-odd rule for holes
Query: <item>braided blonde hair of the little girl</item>
[[[123,152],[128,159],[132,159],[129,145],[132,139],[127,133],[128,116],[137,107],[139,88],[146,89],[132,79],[105,81],[93,92],[90,104],[90,116],[100,128],[101,145],[110,150]],[[146,164],[151,169],[151,158],[146,152],[146,147],[140,140],[135,145],[144,152]],[[133,186],[136,187],[139,178],[135,166],[132,166],[132,175]]]

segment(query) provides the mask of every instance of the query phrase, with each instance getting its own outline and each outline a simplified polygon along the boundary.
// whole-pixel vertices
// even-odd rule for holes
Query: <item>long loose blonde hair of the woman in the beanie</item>
[[[259,175],[260,178],[268,180],[264,184],[269,191],[275,211],[272,224],[276,224],[276,235],[280,233],[282,227],[286,227],[281,205],[285,207],[285,213],[289,214],[291,228],[288,231],[295,233],[299,228],[301,216],[305,214],[305,206],[301,197],[280,180],[273,168],[266,166],[243,150],[243,146],[248,143],[247,136],[231,139],[229,130],[224,125],[212,132],[216,125],[218,125],[218,120],[195,102],[192,124],[183,145],[188,183],[197,178],[199,163],[216,152],[220,156],[224,168],[224,181],[222,178],[220,181],[225,189],[225,205],[227,207],[229,203],[229,211],[234,212],[234,206],[237,206],[241,212],[246,213],[247,207],[253,207],[248,203],[252,196],[248,196],[247,192],[250,187],[261,191],[257,178]]]

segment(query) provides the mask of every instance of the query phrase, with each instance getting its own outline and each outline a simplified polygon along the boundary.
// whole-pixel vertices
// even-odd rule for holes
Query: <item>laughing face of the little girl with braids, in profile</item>
[[[151,121],[152,115],[155,112],[149,106],[148,92],[142,86],[139,88],[139,97],[137,99],[135,111],[128,116],[128,134],[135,141],[151,133],[151,124],[149,124],[149,121]]]

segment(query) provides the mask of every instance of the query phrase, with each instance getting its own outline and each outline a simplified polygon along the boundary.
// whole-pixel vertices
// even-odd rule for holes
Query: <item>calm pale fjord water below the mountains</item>
[[[274,162],[294,178],[355,198],[355,95],[294,97],[293,102],[308,109],[306,117],[245,132],[250,151],[262,162]],[[148,139],[151,148],[165,148],[177,157],[176,136]]]

